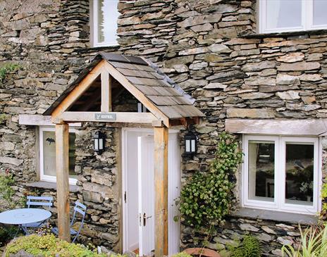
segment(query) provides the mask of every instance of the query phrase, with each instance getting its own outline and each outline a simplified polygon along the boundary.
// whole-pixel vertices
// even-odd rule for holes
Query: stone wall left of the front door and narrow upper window
[[[0,125],[0,170],[13,173],[16,199],[28,194],[54,196],[53,221],[56,190],[26,186],[38,180],[37,138],[35,127],[18,125],[18,114],[42,114],[99,51],[90,49],[88,22],[87,0],[0,1],[0,67],[20,66],[0,82],[0,113],[6,115]],[[110,146],[114,130],[101,129]],[[88,207],[82,241],[112,249],[119,245],[116,174],[112,174],[116,160],[114,150],[94,154],[91,132],[92,128],[83,127],[76,135],[80,182],[79,190],[70,194],[70,206],[78,199]]]

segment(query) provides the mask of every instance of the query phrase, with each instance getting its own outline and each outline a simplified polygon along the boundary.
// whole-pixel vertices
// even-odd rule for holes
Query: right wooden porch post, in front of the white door
[[[154,127],[154,255],[168,256],[168,127]]]

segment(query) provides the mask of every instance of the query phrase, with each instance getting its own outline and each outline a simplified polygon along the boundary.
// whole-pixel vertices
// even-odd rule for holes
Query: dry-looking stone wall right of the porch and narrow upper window
[[[197,155],[183,158],[183,179],[207,169],[226,118],[326,118],[326,32],[257,35],[255,1],[136,1],[120,7],[121,50],[161,66],[206,113],[196,127]],[[266,256],[280,255],[280,247],[299,236],[294,223],[230,217],[209,247],[224,249],[246,233],[259,237]],[[201,239],[182,226],[183,248],[201,246]]]

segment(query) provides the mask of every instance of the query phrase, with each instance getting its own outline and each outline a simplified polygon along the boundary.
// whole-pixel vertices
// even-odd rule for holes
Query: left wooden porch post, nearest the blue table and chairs
[[[68,124],[56,124],[56,177],[59,238],[70,242]]]

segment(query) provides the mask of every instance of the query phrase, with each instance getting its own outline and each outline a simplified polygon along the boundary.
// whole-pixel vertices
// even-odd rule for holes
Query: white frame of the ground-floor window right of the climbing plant
[[[275,142],[275,175],[274,175],[274,201],[259,201],[249,199],[249,141]],[[243,135],[243,149],[245,152],[242,164],[241,203],[242,207],[257,208],[271,211],[283,211],[287,213],[300,213],[316,215],[321,211],[321,142],[318,137],[288,137],[269,135]],[[313,205],[285,203],[285,145],[287,142],[295,144],[314,144],[314,189]]]

